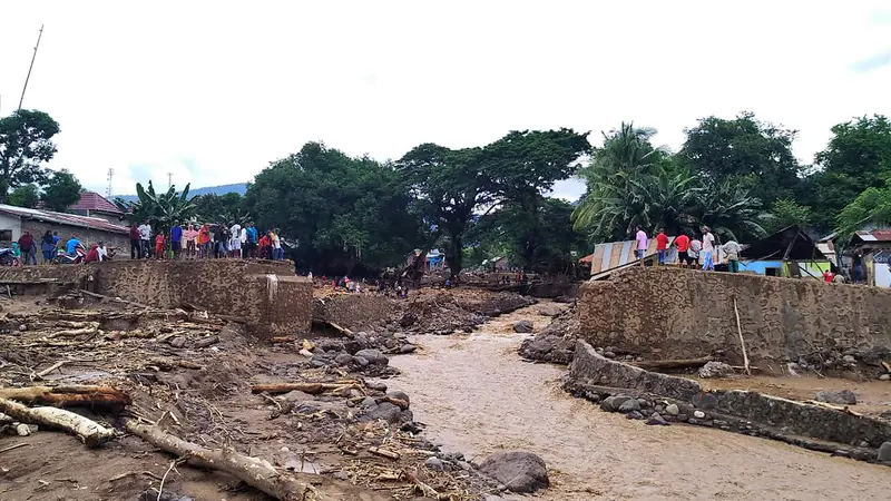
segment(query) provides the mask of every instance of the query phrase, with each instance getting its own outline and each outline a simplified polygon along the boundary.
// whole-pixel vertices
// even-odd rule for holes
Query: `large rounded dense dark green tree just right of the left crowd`
[[[423,242],[407,180],[390,165],[307,143],[272,163],[247,188],[261,228],[298,242],[298,265],[315,274],[404,262]]]

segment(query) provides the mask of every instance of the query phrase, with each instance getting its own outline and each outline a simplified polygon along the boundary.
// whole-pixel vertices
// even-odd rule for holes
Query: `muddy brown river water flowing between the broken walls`
[[[763,439],[686,425],[646,426],[560,390],[562,369],[522,362],[510,326],[549,318],[530,306],[468,335],[419,336],[417,355],[392,364],[391,389],[412,397],[425,434],[481,460],[523,449],[548,464],[538,499],[888,499],[891,469]],[[517,498],[521,499],[521,498]]]

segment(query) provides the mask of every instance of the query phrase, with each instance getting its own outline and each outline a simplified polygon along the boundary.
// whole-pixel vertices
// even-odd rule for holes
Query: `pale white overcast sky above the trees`
[[[625,120],[677,149],[742,110],[810,164],[833,125],[891,115],[882,0],[4,1],[0,116],[41,24],[23,107],[61,126],[49,166],[102,194],[109,168],[116,195],[249,181],[312,140],[385,160]]]

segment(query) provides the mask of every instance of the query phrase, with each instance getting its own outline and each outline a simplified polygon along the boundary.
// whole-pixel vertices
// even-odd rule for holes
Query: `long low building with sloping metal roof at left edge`
[[[18,240],[23,232],[29,232],[39,239],[47,229],[57,232],[63,239],[76,235],[87,245],[105,242],[108,247],[117,248],[121,256],[129,255],[129,230],[123,225],[109,223],[100,217],[0,204],[0,245],[8,247]]]

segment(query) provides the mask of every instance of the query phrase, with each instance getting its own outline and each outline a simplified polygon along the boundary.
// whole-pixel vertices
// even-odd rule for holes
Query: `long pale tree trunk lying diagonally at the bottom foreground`
[[[234,449],[206,449],[186,442],[164,430],[136,421],[125,423],[127,431],[170,454],[187,459],[187,463],[229,473],[246,484],[283,501],[321,500],[319,492],[292,474],[281,472],[268,461],[243,455]]]

